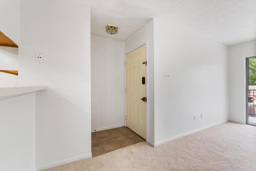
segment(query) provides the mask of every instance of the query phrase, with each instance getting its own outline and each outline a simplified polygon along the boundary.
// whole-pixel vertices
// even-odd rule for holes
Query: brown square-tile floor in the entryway
[[[92,133],[92,157],[145,141],[128,127],[119,127]]]

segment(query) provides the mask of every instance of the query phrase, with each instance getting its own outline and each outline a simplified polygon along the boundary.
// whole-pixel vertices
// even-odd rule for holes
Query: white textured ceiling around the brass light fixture
[[[256,40],[256,0],[72,0],[91,8],[91,32],[126,40],[157,18],[226,45]],[[118,34],[106,33],[115,24]]]

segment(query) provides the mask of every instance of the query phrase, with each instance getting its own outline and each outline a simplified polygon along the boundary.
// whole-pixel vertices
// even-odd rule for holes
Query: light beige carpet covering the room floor
[[[47,171],[256,171],[256,127],[227,122],[158,145],[137,143]]]

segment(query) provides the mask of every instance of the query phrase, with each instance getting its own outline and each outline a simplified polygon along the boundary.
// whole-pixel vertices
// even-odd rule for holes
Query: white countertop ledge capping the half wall
[[[13,97],[16,95],[22,95],[27,93],[32,93],[46,89],[46,86],[31,86],[31,87],[3,87],[0,88],[0,99]]]

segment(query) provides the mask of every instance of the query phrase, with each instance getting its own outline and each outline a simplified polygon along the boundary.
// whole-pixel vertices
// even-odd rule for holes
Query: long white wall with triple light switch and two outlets
[[[154,98],[155,145],[228,121],[228,46],[154,19]]]

